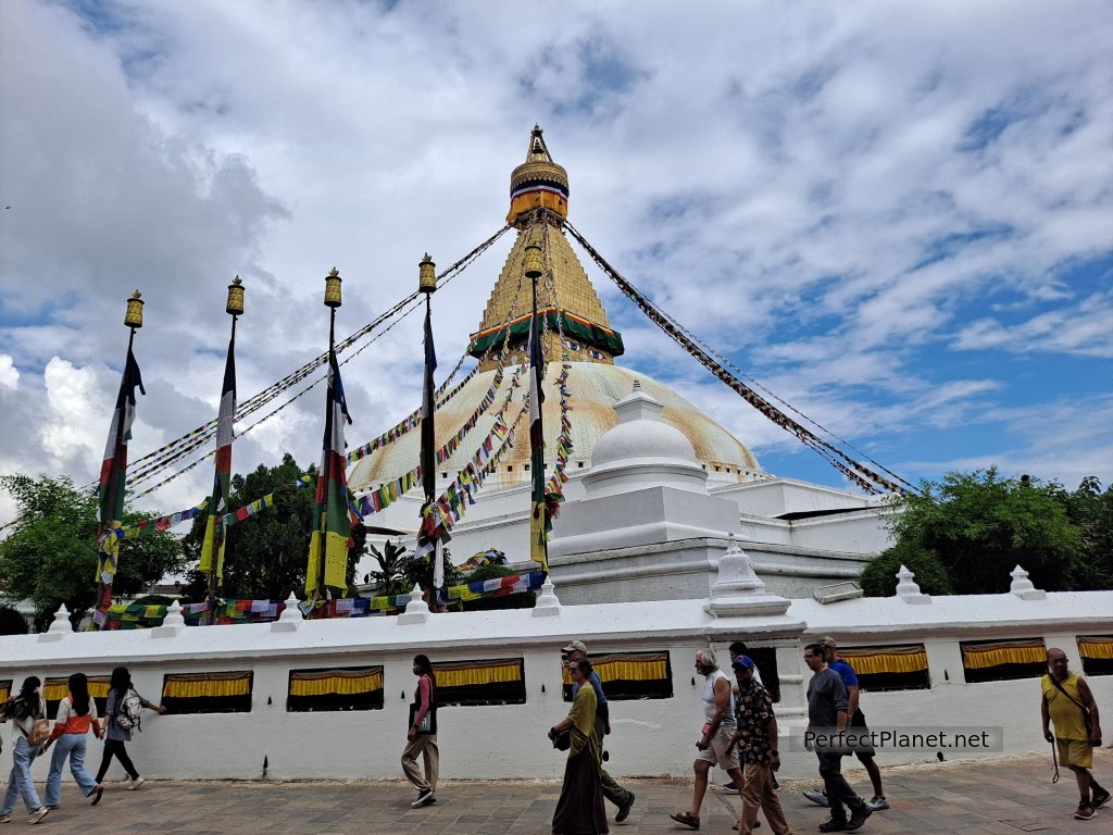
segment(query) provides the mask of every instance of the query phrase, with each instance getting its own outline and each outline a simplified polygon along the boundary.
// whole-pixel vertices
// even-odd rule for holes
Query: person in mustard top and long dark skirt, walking
[[[603,744],[595,733],[595,689],[590,686],[591,661],[578,658],[569,661],[572,684],[579,685],[568,716],[549,729],[554,743],[564,730],[571,736],[564,784],[556,811],[553,812],[553,835],[607,835],[607,809],[603,808]],[[588,687],[583,685],[588,684]]]

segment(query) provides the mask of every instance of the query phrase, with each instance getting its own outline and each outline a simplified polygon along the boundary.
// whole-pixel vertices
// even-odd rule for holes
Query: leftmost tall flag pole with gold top
[[[136,389],[147,394],[142,387],[142,376],[131,347],[135,344],[136,331],[142,327],[142,298],[139,291],[131,294],[128,308],[124,314],[124,324],[129,328],[128,357],[124,364],[124,377],[120,380],[120,391],[116,395],[116,409],[112,411],[112,422],[108,429],[108,443],[105,445],[105,460],[100,464],[100,488],[98,490],[99,528],[97,542],[97,608],[93,622],[101,627],[112,605],[112,580],[119,564],[119,539],[115,530],[122,524],[124,491],[127,485],[128,441],[131,439],[131,424],[136,419]]]

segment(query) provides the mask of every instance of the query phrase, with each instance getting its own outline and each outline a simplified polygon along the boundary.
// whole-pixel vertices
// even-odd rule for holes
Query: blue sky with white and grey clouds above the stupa
[[[346,334],[494,233],[538,121],[588,239],[864,453],[1107,482],[1110,43],[1109,2],[2,2],[0,471],[95,479],[136,287],[132,459],[215,414],[234,275],[243,399],[324,347],[333,265]],[[437,294],[442,366],[509,243]],[[623,364],[844,483],[592,277]],[[417,405],[420,338],[345,366],[355,442]],[[236,469],[314,461],[318,392]]]

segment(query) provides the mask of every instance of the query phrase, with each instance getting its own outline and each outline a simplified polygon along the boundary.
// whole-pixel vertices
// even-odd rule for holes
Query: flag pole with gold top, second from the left
[[[220,411],[216,424],[216,472],[213,477],[213,498],[209,500],[208,522],[198,570],[208,574],[208,623],[216,622],[216,596],[224,580],[225,530],[224,514],[228,512],[232,482],[232,442],[236,440],[233,421],[236,416],[236,321],[244,315],[244,286],[237,275],[228,285],[225,312],[232,316],[232,338],[228,340],[228,358],[224,365],[224,386],[220,389]]]

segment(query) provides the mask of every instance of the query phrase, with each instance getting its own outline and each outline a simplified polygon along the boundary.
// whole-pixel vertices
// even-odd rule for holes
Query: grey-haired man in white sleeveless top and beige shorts
[[[735,748],[733,696],[730,679],[719,669],[715,652],[701,649],[696,654],[696,671],[703,676],[703,735],[696,743],[699,754],[692,769],[696,772],[696,787],[692,805],[687,812],[673,812],[669,817],[691,829],[699,828],[699,811],[707,794],[707,775],[716,763],[730,775],[735,785],[742,785],[742,769],[738,767],[738,752]]]

